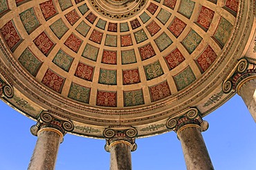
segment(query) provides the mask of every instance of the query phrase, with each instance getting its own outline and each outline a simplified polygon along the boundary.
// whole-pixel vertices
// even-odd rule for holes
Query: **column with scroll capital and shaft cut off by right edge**
[[[248,107],[256,122],[256,64],[255,61],[241,59],[230,76],[223,82],[222,90],[229,93],[237,92]]]

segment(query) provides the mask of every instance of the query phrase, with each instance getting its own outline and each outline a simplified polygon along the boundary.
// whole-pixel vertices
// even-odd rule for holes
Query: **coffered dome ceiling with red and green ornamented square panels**
[[[210,94],[205,88],[225,67],[230,37],[239,31],[233,0],[0,4],[1,39],[26,74],[24,84],[55,111],[64,107],[65,116],[92,125],[192,107]]]

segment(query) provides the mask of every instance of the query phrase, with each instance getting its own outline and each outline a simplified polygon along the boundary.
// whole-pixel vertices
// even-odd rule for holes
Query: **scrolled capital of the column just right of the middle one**
[[[175,132],[181,131],[186,127],[197,127],[201,131],[206,131],[209,124],[207,121],[202,119],[201,113],[198,109],[191,108],[188,111],[185,111],[182,116],[168,119],[166,122],[166,127]]]

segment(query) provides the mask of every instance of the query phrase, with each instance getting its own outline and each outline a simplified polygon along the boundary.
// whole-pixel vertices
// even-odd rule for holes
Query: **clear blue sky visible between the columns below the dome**
[[[0,100],[0,170],[27,169],[37,137],[30,134],[35,121],[19,114]],[[234,96],[205,116],[210,127],[203,132],[214,169],[256,169],[256,125],[246,105]],[[104,140],[66,134],[60,145],[56,170],[109,169],[110,155]],[[132,152],[134,170],[181,169],[185,161],[181,144],[172,131],[136,140]]]

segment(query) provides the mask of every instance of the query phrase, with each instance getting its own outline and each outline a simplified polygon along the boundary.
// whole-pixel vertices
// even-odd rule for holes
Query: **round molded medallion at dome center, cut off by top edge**
[[[147,0],[90,0],[93,9],[110,19],[133,17],[145,7]]]

